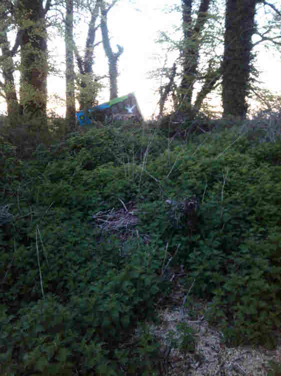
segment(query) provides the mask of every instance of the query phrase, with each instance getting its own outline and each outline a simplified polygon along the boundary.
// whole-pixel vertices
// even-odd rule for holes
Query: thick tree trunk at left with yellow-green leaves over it
[[[20,105],[29,117],[46,116],[47,33],[42,3],[42,0],[20,0],[18,5]]]

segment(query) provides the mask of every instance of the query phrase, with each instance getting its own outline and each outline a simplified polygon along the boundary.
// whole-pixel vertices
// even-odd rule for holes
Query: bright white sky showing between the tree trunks
[[[162,67],[164,64],[164,53],[161,45],[155,44],[159,31],[169,31],[172,33],[172,26],[179,26],[181,15],[179,12],[165,12],[163,9],[173,5],[180,5],[180,0],[120,0],[108,13],[108,29],[111,36],[111,47],[116,51],[116,44],[124,48],[123,54],[119,58],[118,95],[122,96],[129,92],[136,94],[138,104],[145,118],[152,114],[157,114],[157,101],[159,96],[155,94],[159,82],[149,78],[148,72],[154,68]],[[261,12],[259,17],[264,17]],[[87,25],[82,21],[78,27],[81,33],[81,47],[84,46]],[[177,35],[179,37],[179,35]],[[101,41],[98,32],[95,42]],[[54,61],[63,69],[64,44],[62,38],[50,36],[48,47]],[[281,69],[280,56],[273,55],[269,50],[258,46],[257,67],[263,73],[259,79],[261,85],[271,89],[276,94],[281,95]],[[171,60],[173,57],[169,56]],[[94,73],[98,75],[107,74],[107,59],[105,58],[102,44],[95,49]],[[98,96],[99,103],[109,99],[108,81]],[[63,98],[65,91],[64,78],[48,78],[48,94],[55,95],[56,99],[50,101],[49,107],[63,116]],[[57,101],[57,96],[62,101]],[[219,105],[219,100],[214,103]],[[0,112],[3,105],[0,103]]]

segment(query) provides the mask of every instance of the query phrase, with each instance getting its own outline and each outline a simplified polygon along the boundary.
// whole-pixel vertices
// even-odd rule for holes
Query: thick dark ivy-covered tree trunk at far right
[[[223,116],[244,118],[251,71],[251,38],[257,0],[227,0],[222,62]]]

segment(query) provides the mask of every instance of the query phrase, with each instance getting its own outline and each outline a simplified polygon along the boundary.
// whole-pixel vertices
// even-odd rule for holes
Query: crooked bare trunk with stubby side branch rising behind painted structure
[[[111,8],[111,7],[110,7]],[[101,6],[101,20],[100,20],[100,29],[102,35],[102,44],[105,55],[108,59],[108,72],[109,72],[109,88],[110,88],[110,95],[109,100],[116,98],[118,96],[118,89],[117,89],[117,77],[118,77],[118,59],[120,55],[123,53],[123,47],[117,45],[118,51],[113,53],[112,48],[110,46],[110,41],[108,38],[108,28],[107,28],[107,13],[109,9],[104,8],[104,2],[102,2]]]

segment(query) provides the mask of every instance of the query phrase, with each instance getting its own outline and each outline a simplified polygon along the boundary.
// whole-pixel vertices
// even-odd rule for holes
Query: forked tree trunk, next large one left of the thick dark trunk
[[[207,20],[206,12],[208,11],[209,3],[210,0],[201,0],[196,23],[192,28],[192,0],[182,0],[184,46],[182,51],[183,77],[181,80],[180,91],[181,99],[183,100],[183,105],[186,110],[191,109],[193,85],[196,80],[199,62],[200,42],[198,37]]]

